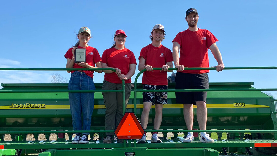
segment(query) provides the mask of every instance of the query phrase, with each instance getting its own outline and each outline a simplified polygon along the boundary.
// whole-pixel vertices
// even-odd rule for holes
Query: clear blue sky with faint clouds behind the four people
[[[162,44],[172,49],[176,34],[188,28],[185,12],[190,7],[198,10],[198,27],[219,40],[225,67],[276,66],[276,6],[275,0],[2,1],[0,68],[65,68],[64,54],[82,26],[91,29],[89,46],[101,56],[111,47],[114,32],[123,29],[126,47],[138,58],[141,48],[151,43],[155,24],[165,27]],[[217,65],[210,51],[209,58],[210,66]],[[70,79],[66,71],[57,72]],[[57,72],[1,71],[0,83],[49,83]],[[254,82],[256,88],[277,88],[276,76],[276,69],[209,73],[210,82]],[[103,73],[94,76],[95,83],[103,79]]]

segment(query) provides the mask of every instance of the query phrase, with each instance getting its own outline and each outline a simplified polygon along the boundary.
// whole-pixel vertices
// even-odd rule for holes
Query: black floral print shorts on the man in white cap
[[[144,84],[143,89],[168,89],[167,85],[149,85]],[[167,104],[167,92],[142,92],[143,102],[152,102],[154,104]]]

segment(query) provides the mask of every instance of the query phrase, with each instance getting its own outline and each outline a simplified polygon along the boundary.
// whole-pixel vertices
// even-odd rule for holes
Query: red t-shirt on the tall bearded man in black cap
[[[217,42],[217,38],[206,29],[198,29],[198,31],[185,31],[179,32],[172,42],[180,44],[180,58],[179,64],[189,68],[208,68],[209,57],[208,48]],[[185,73],[207,73],[209,70],[193,70]]]

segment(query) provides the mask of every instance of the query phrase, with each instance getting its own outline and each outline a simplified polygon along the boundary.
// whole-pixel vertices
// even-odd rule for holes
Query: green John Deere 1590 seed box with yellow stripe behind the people
[[[210,83],[210,88],[230,89],[253,88],[253,82],[243,83]],[[169,88],[173,89],[175,84],[169,84]],[[57,90],[55,93],[1,93],[0,96],[0,119],[2,128],[12,127],[68,127],[72,129],[71,113],[69,110],[68,94],[60,93],[59,90],[66,90],[67,84],[2,84],[4,88],[1,90]],[[138,89],[142,85],[138,85]],[[96,89],[101,89],[101,84],[96,84]],[[169,104],[175,104],[174,92],[168,93]],[[142,112],[142,93],[137,93],[137,103],[140,108],[137,109],[137,116],[140,117]],[[234,103],[244,103],[249,107],[232,107]],[[16,104],[13,108],[12,104]],[[37,105],[31,105],[37,104]],[[47,107],[24,109],[18,107]],[[129,103],[130,107],[134,104],[134,93],[132,92]],[[257,124],[269,119],[270,115],[270,98],[260,91],[243,91],[243,92],[208,92],[207,97],[208,119],[207,128],[221,129],[224,125],[237,126],[237,129],[252,129],[250,126],[257,126]],[[21,105],[21,106],[20,106]],[[28,105],[28,106],[27,106]],[[209,107],[211,105],[211,107]],[[49,107],[48,107],[49,106]],[[257,108],[266,107],[266,108]],[[269,106],[269,107],[268,107]],[[3,109],[6,107],[6,109]],[[10,108],[11,107],[11,108]],[[62,109],[65,108],[66,109]],[[133,112],[134,109],[127,107],[127,112]],[[173,127],[176,125],[185,125],[183,119],[182,105],[163,109],[163,122],[161,127]],[[253,107],[253,108],[251,108]],[[35,110],[35,111],[34,111]],[[220,110],[220,111],[219,111]],[[196,109],[194,109],[196,115]],[[95,93],[95,109],[93,112],[93,126],[104,127],[104,101],[101,93]],[[150,111],[149,128],[153,126],[153,116],[155,110]],[[2,120],[2,121],[1,121]],[[220,122],[218,122],[220,121]],[[181,124],[180,124],[181,123]],[[194,121],[194,128],[198,128],[198,123]],[[183,126],[185,127],[185,126]],[[179,127],[182,128],[182,127]],[[260,127],[258,127],[260,129]],[[1,127],[0,127],[1,130]]]

